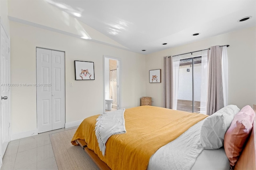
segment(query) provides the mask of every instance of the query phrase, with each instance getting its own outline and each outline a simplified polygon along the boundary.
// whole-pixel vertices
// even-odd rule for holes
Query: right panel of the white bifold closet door
[[[65,58],[64,52],[52,51],[52,130],[65,124]]]

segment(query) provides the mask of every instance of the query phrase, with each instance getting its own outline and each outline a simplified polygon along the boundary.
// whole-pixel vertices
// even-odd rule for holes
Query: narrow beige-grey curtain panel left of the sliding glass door
[[[163,103],[165,108],[172,109],[173,102],[173,85],[172,85],[172,57],[164,57],[164,71],[163,71]]]

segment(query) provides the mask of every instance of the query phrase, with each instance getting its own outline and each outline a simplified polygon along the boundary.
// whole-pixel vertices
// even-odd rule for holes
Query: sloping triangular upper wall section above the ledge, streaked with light
[[[65,5],[65,2],[61,4]],[[38,28],[127,49],[46,0],[8,0],[8,16],[10,20]]]

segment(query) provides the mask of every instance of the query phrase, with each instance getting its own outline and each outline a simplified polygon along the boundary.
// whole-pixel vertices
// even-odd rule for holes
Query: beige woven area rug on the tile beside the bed
[[[81,146],[71,144],[76,128],[50,134],[59,170],[99,170]]]

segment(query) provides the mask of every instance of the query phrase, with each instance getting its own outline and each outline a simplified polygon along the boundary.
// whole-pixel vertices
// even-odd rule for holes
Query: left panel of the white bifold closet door
[[[36,48],[36,103],[38,133],[52,130],[52,51]]]

